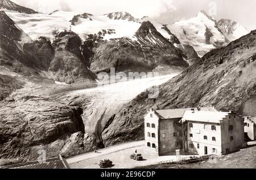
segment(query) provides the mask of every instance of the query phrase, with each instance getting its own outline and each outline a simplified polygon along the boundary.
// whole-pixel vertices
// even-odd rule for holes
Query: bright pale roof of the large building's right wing
[[[220,120],[229,115],[229,112],[213,111],[185,111],[182,121],[194,121],[205,123],[220,123]]]

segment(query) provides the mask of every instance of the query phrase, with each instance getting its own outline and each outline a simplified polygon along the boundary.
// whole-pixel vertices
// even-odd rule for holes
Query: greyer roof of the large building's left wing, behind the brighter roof
[[[170,110],[156,110],[156,114],[159,116],[160,119],[175,119],[175,118],[182,118],[185,111],[197,111],[197,107],[191,108],[177,108],[177,109],[170,109]],[[214,107],[201,107],[201,111],[217,111]]]

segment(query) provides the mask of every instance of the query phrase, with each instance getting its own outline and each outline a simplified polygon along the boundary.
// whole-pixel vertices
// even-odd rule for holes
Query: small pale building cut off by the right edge
[[[256,117],[244,117],[245,136],[249,138],[249,141],[256,140]]]

